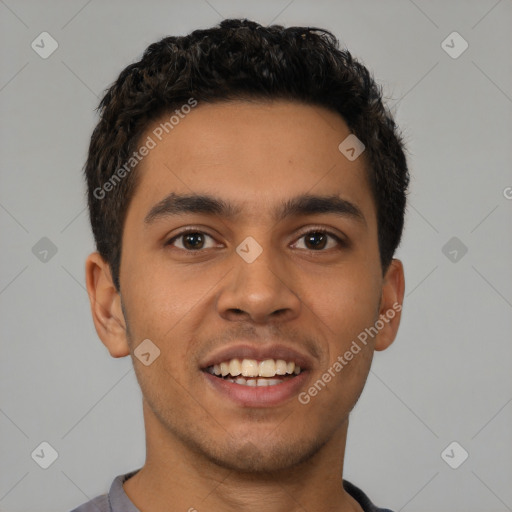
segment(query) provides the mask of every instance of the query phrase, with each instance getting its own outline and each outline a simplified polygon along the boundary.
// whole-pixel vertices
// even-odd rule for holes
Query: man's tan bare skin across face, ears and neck
[[[132,356],[142,389],[146,463],[124,484],[141,511],[168,511],[170,504],[224,512],[361,510],[341,485],[348,418],[374,351],[396,336],[399,311],[306,405],[294,396],[278,407],[241,407],[207,386],[199,369],[237,339],[274,340],[312,357],[307,391],[359,333],[402,304],[401,262],[394,259],[385,275],[380,265],[364,153],[351,162],[338,150],[349,133],[339,115],[316,106],[200,104],[137,168],[120,294],[101,256],[87,258],[97,333],[113,357]],[[146,225],[148,211],[170,192],[214,195],[241,213],[187,213]],[[304,193],[338,195],[365,220],[332,213],[272,220],[276,205]],[[186,227],[209,235],[199,250],[197,240],[187,245],[183,237],[165,245]],[[322,235],[325,246],[308,245],[304,234],[319,227],[348,245]],[[251,264],[235,251],[247,236],[263,248]],[[149,366],[133,357],[147,338],[161,351]]]

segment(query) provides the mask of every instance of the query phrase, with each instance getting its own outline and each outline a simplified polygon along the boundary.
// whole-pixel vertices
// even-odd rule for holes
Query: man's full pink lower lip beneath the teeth
[[[306,382],[308,371],[286,379],[274,386],[244,386],[215,377],[211,373],[202,372],[213,389],[242,407],[269,407],[280,405],[298,394]]]

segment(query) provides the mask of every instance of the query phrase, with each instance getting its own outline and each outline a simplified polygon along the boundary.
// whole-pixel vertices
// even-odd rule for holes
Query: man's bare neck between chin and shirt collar
[[[308,460],[279,471],[241,473],[190,449],[156,420],[145,400],[146,463],[124,484],[141,511],[361,512],[343,489],[348,419]]]

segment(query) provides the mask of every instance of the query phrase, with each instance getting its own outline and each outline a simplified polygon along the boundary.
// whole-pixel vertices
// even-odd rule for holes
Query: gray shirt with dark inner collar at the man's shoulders
[[[135,475],[139,469],[116,476],[108,494],[96,496],[96,498],[80,505],[71,512],[140,512],[130,501],[123,488],[123,483]],[[361,489],[347,480],[343,480],[343,487],[361,505],[364,512],[392,512],[387,508],[377,508]]]

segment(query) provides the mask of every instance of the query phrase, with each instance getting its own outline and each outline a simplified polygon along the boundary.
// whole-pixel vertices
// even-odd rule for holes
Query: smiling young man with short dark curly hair
[[[342,479],[404,296],[409,175],[368,70],[327,31],[225,20],[150,45],[100,114],[87,289],[147,453],[74,512],[385,510]]]

